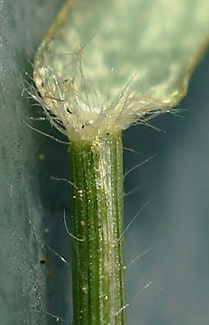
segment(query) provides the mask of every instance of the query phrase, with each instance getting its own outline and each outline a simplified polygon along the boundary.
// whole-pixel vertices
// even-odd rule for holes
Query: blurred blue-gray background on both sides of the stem
[[[69,176],[66,146],[24,122],[39,115],[21,97],[25,71],[61,0],[0,0],[0,312],[5,325],[57,324],[47,312],[72,320]],[[126,298],[128,325],[197,325],[209,320],[209,59],[190,82],[180,115],[124,133],[125,169],[156,156],[126,177]],[[47,122],[37,128],[61,137]],[[40,159],[40,154],[44,159]],[[65,256],[63,263],[48,249]],[[46,258],[46,263],[41,260]],[[65,323],[63,323],[65,324]]]

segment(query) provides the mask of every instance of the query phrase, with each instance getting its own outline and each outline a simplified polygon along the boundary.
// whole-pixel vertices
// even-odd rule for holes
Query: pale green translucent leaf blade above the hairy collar
[[[208,35],[205,0],[67,1],[39,47],[34,78],[45,98],[70,102],[69,88],[74,89],[91,107],[80,113],[89,124],[92,112],[99,115],[98,107],[108,111],[129,84],[122,93],[123,112],[113,111],[125,128],[145,112],[173,107],[186,95]],[[124,110],[127,96],[133,102]]]

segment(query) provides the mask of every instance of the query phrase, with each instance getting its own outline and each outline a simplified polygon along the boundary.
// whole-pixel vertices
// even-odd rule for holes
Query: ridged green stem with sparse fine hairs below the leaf
[[[122,135],[71,142],[74,325],[124,325]]]

